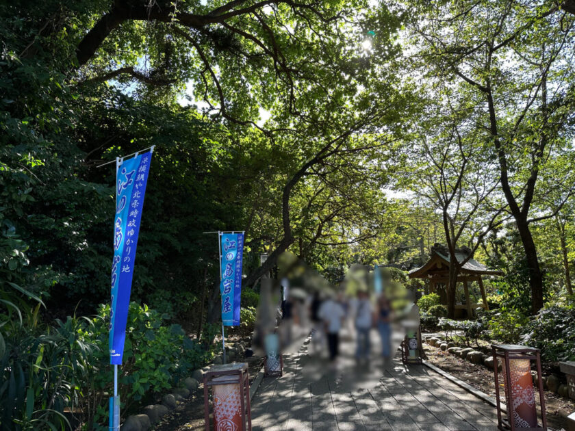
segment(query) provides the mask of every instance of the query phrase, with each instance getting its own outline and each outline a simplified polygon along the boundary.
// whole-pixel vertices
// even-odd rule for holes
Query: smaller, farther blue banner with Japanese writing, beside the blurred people
[[[243,233],[222,233],[220,293],[222,294],[222,322],[224,326],[240,324],[240,300],[242,297]]]

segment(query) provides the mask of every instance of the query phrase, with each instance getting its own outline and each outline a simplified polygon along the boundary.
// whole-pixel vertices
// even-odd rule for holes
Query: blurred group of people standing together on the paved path
[[[391,356],[391,318],[389,301],[383,295],[372,301],[367,291],[358,291],[354,298],[342,293],[322,299],[316,292],[309,305],[312,330],[311,343],[315,352],[324,350],[327,343],[329,360],[335,362],[340,354],[342,329],[355,327],[355,357],[367,361],[371,352],[370,332],[376,328],[381,337],[381,356]]]

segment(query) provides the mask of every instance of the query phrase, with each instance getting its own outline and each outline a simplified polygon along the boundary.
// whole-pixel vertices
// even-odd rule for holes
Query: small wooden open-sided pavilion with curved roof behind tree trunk
[[[470,254],[468,248],[456,248],[455,257],[459,263],[463,262]],[[449,261],[450,255],[446,247],[439,244],[435,244],[431,248],[431,257],[429,261],[422,265],[421,267],[411,270],[408,274],[409,278],[422,278],[424,280],[429,280],[429,292],[439,293],[442,303],[447,304],[447,296],[445,291],[437,292],[437,287],[441,285],[448,285],[449,283]],[[465,304],[455,304],[455,315],[461,315],[463,310],[467,312],[468,317],[472,317],[473,309],[477,307],[482,307],[489,310],[489,305],[487,305],[487,299],[485,298],[485,288],[483,287],[482,276],[493,275],[500,276],[502,272],[496,270],[490,270],[488,267],[479,263],[475,259],[471,258],[457,274],[457,283],[463,283],[463,291],[465,293]],[[470,300],[469,295],[469,283],[476,281],[479,285],[479,290],[481,291],[481,299],[483,304],[473,304]]]

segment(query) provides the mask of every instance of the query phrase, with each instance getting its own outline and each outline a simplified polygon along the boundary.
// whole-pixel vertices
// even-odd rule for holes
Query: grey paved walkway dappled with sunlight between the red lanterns
[[[374,376],[368,389],[342,384],[341,371],[313,378],[307,365],[304,344],[284,356],[283,377],[264,378],[252,400],[254,431],[497,430],[494,407],[424,365],[405,367],[399,354],[385,371],[361,365],[364,376]]]

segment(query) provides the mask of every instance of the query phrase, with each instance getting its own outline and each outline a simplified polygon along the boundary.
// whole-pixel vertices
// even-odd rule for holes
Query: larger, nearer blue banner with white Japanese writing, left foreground
[[[110,363],[120,365],[124,354],[133,264],[152,153],[123,161],[116,172],[116,217],[110,309]]]

